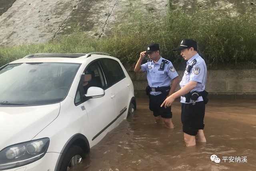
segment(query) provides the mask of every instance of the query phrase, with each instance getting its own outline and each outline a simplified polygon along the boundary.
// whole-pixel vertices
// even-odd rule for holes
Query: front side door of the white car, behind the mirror
[[[100,87],[105,91],[105,95],[103,97],[92,98],[84,100],[83,102],[84,109],[88,113],[91,140],[93,141],[98,138],[97,140],[100,141],[100,139],[106,135],[103,131],[105,131],[115,119],[114,113],[116,111],[116,103],[113,98],[112,90],[106,85],[106,77],[99,61],[97,60],[89,64],[88,67],[86,67],[85,72],[89,68],[95,74],[91,81],[96,83],[96,87]],[[80,89],[83,91],[82,84],[80,85]]]

